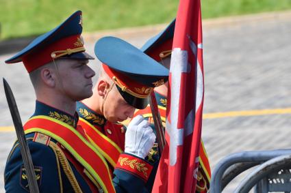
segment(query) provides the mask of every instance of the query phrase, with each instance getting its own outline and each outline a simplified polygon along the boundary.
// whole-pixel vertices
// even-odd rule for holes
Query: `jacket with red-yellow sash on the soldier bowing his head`
[[[97,114],[82,102],[77,102],[77,112],[79,114],[78,125],[81,125],[90,143],[105,158],[110,172],[113,174],[114,183],[118,183],[122,178],[125,182],[130,181],[130,185],[125,188],[126,192],[144,192],[150,173],[145,173],[143,170],[148,170],[153,166],[151,162],[123,153],[125,126],[107,121],[103,115]],[[123,160],[129,165],[130,162],[132,163],[129,167],[130,170],[125,167],[125,164],[122,164]]]

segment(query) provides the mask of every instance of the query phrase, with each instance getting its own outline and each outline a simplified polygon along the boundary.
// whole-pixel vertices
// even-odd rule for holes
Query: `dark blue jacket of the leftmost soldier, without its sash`
[[[77,114],[76,116],[68,115],[61,110],[36,101],[35,113],[29,120],[39,116],[61,121],[76,131],[79,130],[77,128]],[[70,178],[75,179],[75,181],[77,180],[77,184],[82,192],[97,192],[97,188],[94,187],[94,184],[83,170],[81,170],[81,164],[77,162],[73,155],[58,140],[50,138],[41,132],[26,133],[25,137],[27,138],[27,144],[31,152],[40,192],[73,192],[73,185],[75,183]],[[66,175],[66,173],[69,174]],[[6,192],[29,191],[18,141],[14,143],[8,156],[4,179]]]

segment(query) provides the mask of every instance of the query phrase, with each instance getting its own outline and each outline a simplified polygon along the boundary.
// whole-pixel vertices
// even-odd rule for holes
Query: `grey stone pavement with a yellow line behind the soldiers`
[[[273,14],[261,18],[227,18],[234,20],[231,23],[205,21],[204,113],[291,107],[291,17]],[[118,36],[140,47],[154,33]],[[93,55],[94,38],[88,40],[86,47]],[[10,83],[24,122],[34,111],[34,90],[21,63],[3,64],[11,55],[0,56],[0,75]],[[90,66],[97,70],[97,63],[92,61]],[[12,120],[2,83],[0,90],[1,127],[12,125]],[[212,169],[229,153],[291,147],[290,125],[291,114],[203,119],[202,135]],[[0,132],[0,192],[4,192],[3,170],[14,140],[14,132]],[[236,179],[224,192],[233,192],[240,180]]]

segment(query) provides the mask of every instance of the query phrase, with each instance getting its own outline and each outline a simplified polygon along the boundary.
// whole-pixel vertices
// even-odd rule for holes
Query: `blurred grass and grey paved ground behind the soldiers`
[[[175,0],[0,0],[0,75],[8,80],[23,122],[35,95],[21,63],[4,63],[36,35],[83,12],[85,46],[114,35],[140,48],[177,14]],[[291,0],[203,0],[205,102],[202,136],[215,168],[229,153],[291,147]],[[90,67],[99,69],[99,61]],[[94,78],[96,80],[97,77]],[[16,135],[0,84],[0,192]],[[244,174],[224,192],[233,192]]]

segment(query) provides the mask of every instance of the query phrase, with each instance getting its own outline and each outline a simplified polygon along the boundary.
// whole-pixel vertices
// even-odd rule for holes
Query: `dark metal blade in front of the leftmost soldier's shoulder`
[[[12,116],[12,120],[14,123],[14,128],[16,131],[16,135],[19,141],[19,145],[21,147],[21,155],[23,158],[23,163],[25,167],[25,171],[27,174],[27,180],[29,184],[30,192],[38,193],[38,183],[36,181],[36,174],[34,173],[34,164],[31,159],[30,151],[27,145],[27,141],[25,139],[25,134],[23,130],[23,125],[21,123],[21,117],[18,112],[18,108],[14,99],[14,95],[5,78],[3,78],[3,85],[5,90],[6,99],[8,102],[8,106],[10,109],[10,113]]]

